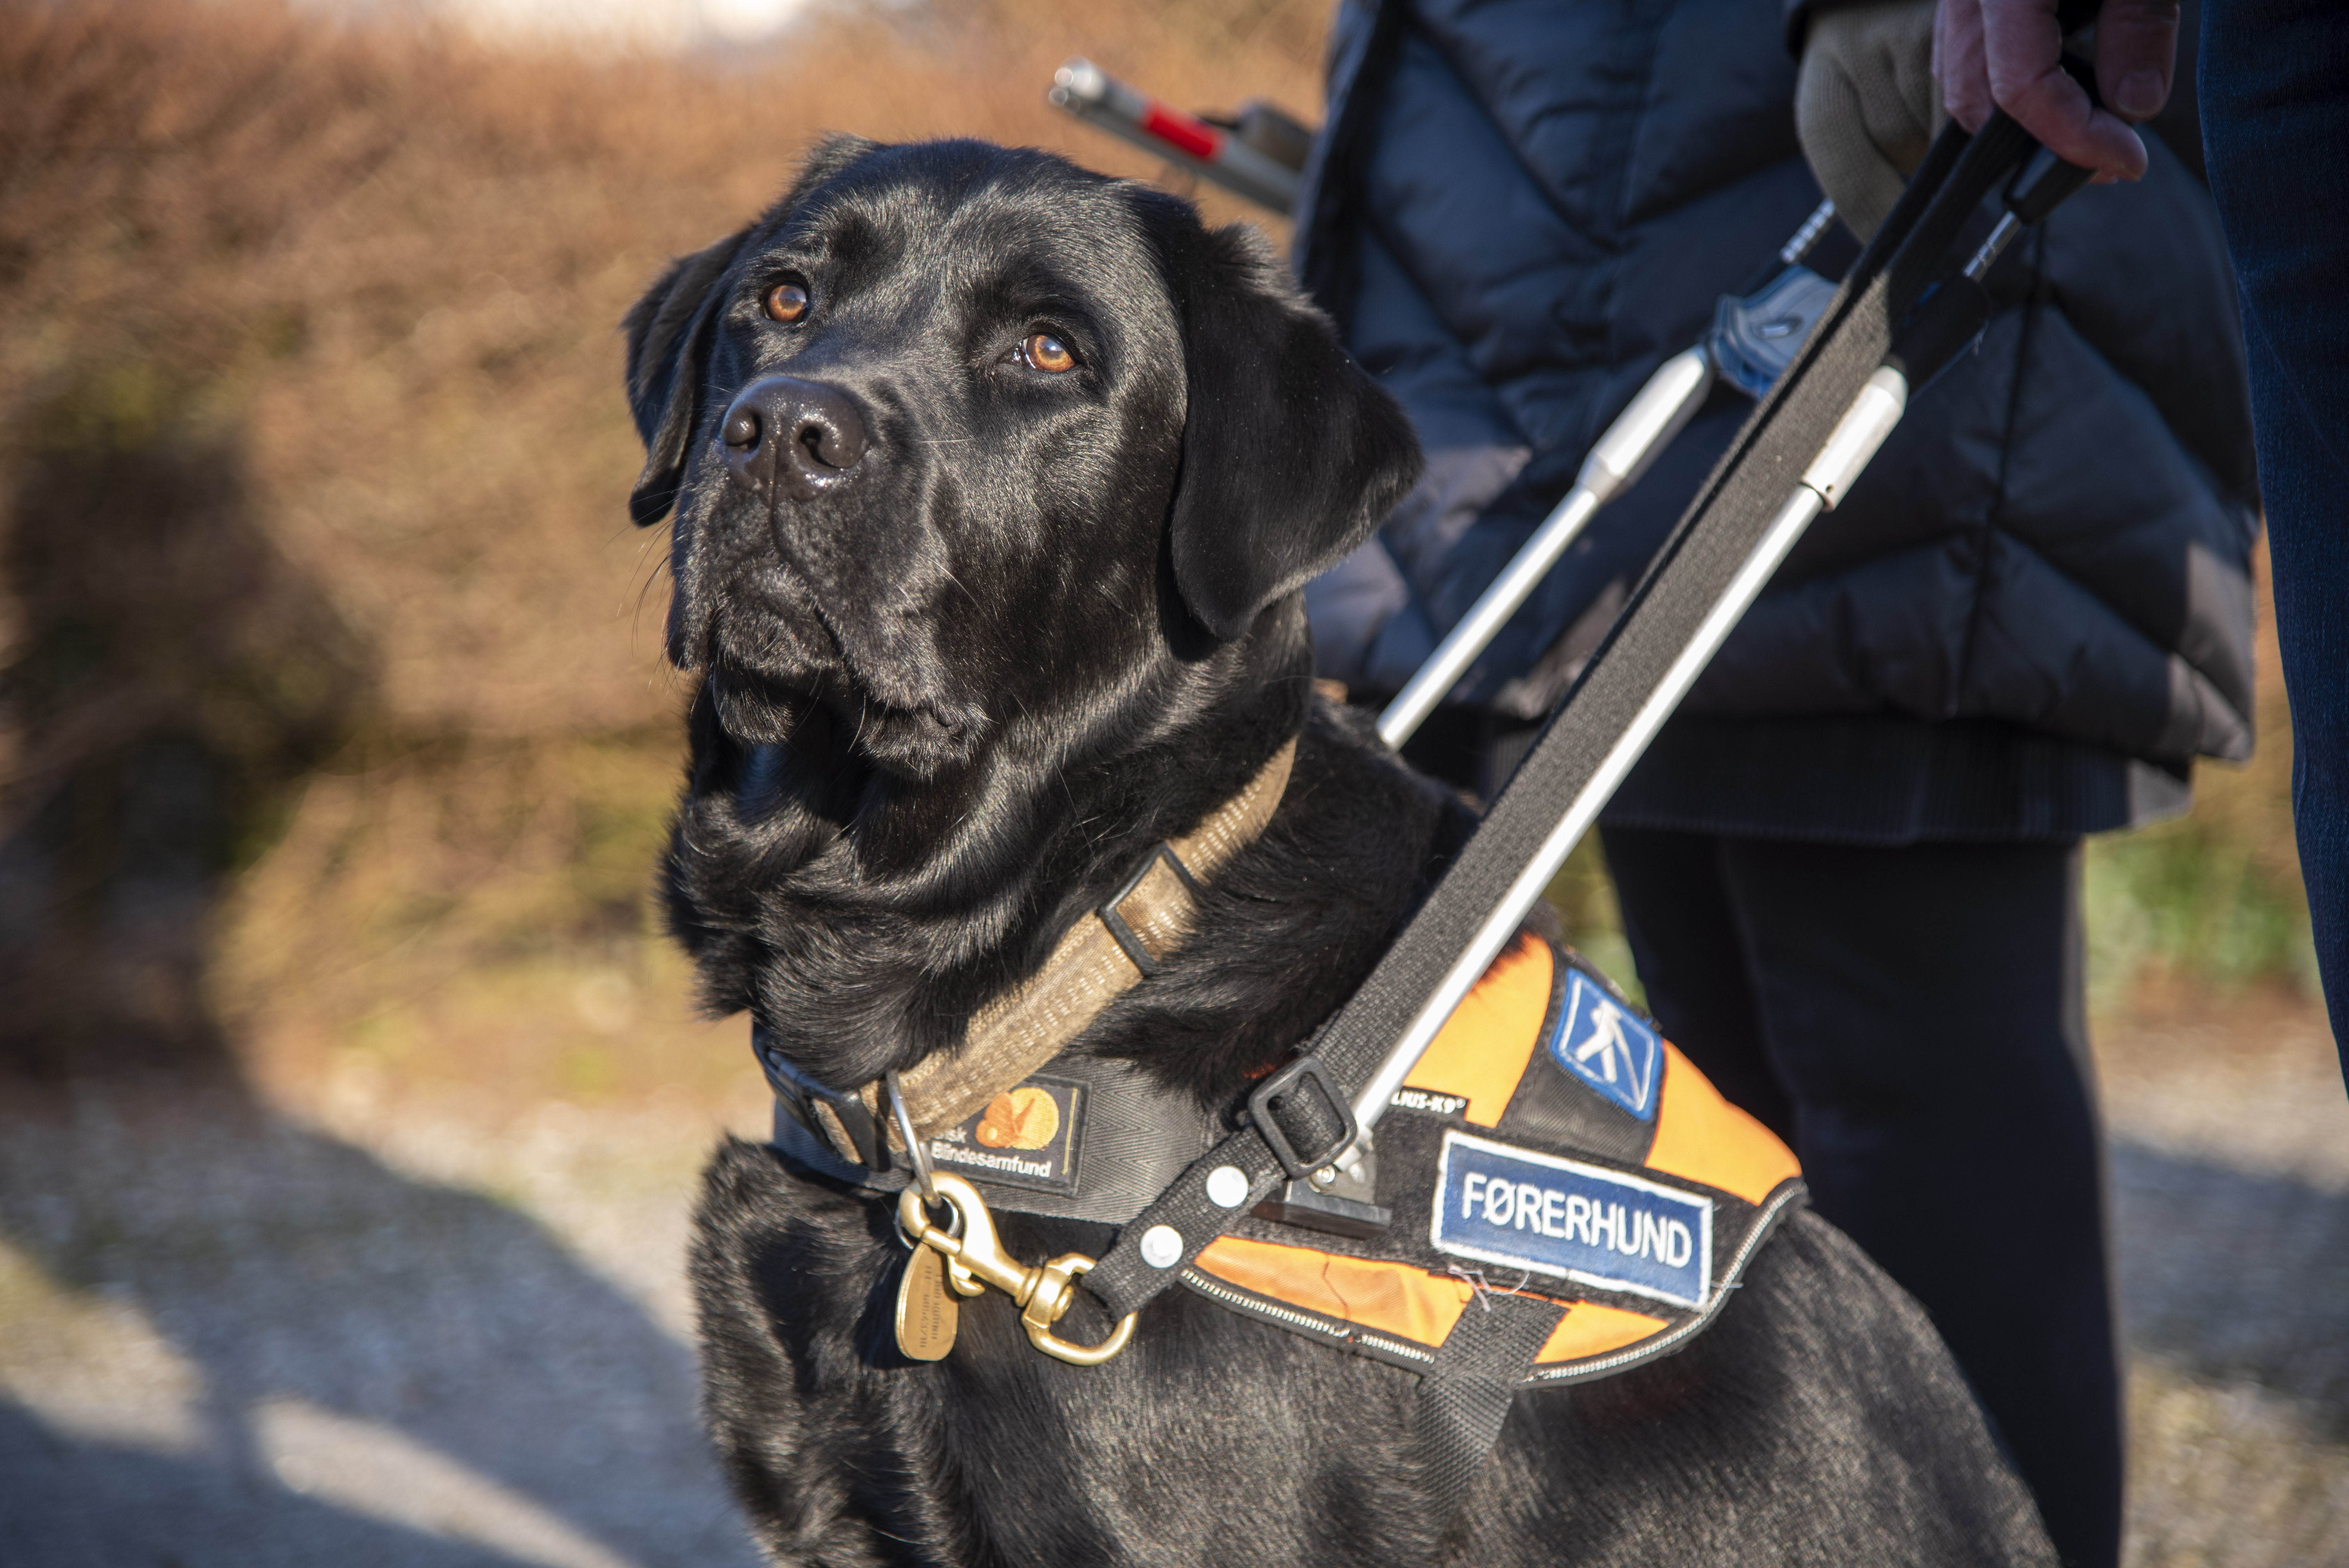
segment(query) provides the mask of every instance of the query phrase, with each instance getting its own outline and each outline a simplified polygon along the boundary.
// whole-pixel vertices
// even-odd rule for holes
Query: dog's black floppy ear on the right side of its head
[[[1174,587],[1231,641],[1337,566],[1419,481],[1402,408],[1238,223],[1137,192],[1182,317],[1189,404],[1170,519]]]

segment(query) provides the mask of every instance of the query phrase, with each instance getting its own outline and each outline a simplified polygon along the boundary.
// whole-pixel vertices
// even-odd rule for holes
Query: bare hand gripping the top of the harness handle
[[[2055,157],[2100,178],[2145,174],[2145,143],[2131,122],[2152,120],[2170,101],[2178,68],[2178,0],[2105,0],[2095,16],[2095,89],[2088,103],[2062,73],[2055,0],[1940,0],[1933,23],[1933,75],[1950,117],[1983,129],[2004,108]]]

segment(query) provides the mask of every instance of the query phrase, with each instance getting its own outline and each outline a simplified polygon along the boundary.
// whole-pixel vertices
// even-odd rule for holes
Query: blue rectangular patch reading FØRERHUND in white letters
[[[1682,1307],[1712,1289],[1710,1197],[1463,1131],[1445,1134],[1428,1242]]]

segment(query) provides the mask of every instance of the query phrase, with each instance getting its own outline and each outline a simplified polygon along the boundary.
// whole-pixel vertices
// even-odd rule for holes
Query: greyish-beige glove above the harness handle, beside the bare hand
[[[1802,47],[1795,136],[1835,216],[1860,239],[1884,223],[1950,117],[1933,80],[1933,2],[1820,12]]]

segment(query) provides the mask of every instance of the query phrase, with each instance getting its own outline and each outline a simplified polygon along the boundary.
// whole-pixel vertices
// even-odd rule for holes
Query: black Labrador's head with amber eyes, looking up
[[[822,146],[630,312],[627,385],[669,660],[914,782],[1172,699],[1419,465],[1254,232],[972,141]]]

